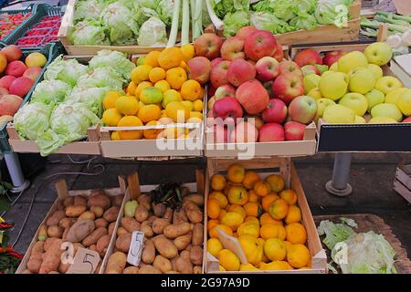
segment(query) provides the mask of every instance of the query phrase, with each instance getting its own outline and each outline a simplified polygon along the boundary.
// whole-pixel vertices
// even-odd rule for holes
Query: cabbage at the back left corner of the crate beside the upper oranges
[[[77,80],[80,76],[87,74],[89,68],[85,65],[79,64],[79,62],[74,59],[63,60],[60,56],[47,67],[46,72],[44,73],[45,80],[61,80],[72,87],[77,83]]]

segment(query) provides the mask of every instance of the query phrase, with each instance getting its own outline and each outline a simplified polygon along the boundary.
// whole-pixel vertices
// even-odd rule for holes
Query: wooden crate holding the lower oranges
[[[229,159],[208,159],[207,174],[205,181],[205,226],[207,225],[207,198],[210,193],[209,179],[213,174],[226,172],[229,165],[233,164],[233,160]],[[247,162],[240,162],[248,170],[258,172],[261,178],[266,178],[270,174],[280,174],[286,184],[286,188],[290,188],[297,193],[297,204],[300,207],[302,215],[302,224],[307,230],[307,245],[311,253],[311,269],[307,270],[287,270],[287,271],[230,271],[220,272],[218,260],[204,251],[203,261],[205,273],[210,274],[325,274],[327,272],[327,256],[325,250],[321,246],[320,237],[317,233],[317,228],[312,219],[310,206],[307,203],[304,191],[302,189],[299,176],[290,158],[271,158],[271,159],[255,159]],[[270,169],[279,169],[278,172],[272,172]],[[207,230],[205,228],[205,242],[207,240]]]

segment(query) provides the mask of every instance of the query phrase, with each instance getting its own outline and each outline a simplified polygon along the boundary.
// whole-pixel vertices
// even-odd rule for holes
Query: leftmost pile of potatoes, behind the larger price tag
[[[100,255],[107,252],[111,235],[120,212],[124,195],[109,196],[104,191],[91,191],[90,196],[68,196],[58,202],[57,210],[42,225],[27,262],[24,274],[66,274],[70,264],[61,262],[61,255],[70,247],[61,249],[63,243],[72,243],[73,253],[88,248]]]

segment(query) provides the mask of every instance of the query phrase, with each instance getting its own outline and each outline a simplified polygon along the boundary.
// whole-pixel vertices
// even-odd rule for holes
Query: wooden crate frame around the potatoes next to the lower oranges
[[[114,252],[114,248],[115,248],[116,240],[117,240],[117,229],[121,227],[121,218],[124,216],[125,203],[129,202],[130,200],[137,200],[137,198],[140,196],[141,193],[148,193],[157,187],[157,185],[154,185],[154,184],[140,185],[139,175],[137,172],[134,172],[131,175],[129,175],[127,182],[129,185],[129,188],[128,188],[129,192],[125,193],[124,195],[124,200],[122,202],[119,217],[117,219],[114,232],[111,237],[111,242],[107,249],[107,254],[106,256],[104,256],[104,260],[101,264],[100,274],[104,274],[109,257]],[[187,187],[190,190],[190,192],[200,193],[204,195],[205,193],[205,173],[204,171],[196,170],[195,171],[195,183],[183,183],[183,186]],[[204,266],[203,266],[203,273],[204,273]]]

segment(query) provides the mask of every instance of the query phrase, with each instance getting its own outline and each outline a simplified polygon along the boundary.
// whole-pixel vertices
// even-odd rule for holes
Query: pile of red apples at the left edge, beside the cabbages
[[[21,49],[15,45],[0,51],[0,125],[13,120],[23,98],[34,85],[47,58],[41,53],[30,53],[23,61]]]

